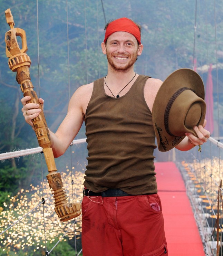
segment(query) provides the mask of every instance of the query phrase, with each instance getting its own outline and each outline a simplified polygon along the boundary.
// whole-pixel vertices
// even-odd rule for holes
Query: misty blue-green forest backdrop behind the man
[[[207,65],[212,64],[211,135],[222,142],[223,0],[0,0],[0,7],[0,153],[39,146],[22,116],[22,93],[5,54],[4,35],[10,28],[4,11],[8,8],[14,27],[26,31],[31,82],[38,96],[45,100],[44,113],[51,131],[56,132],[65,117],[75,90],[106,76],[107,59],[100,47],[106,22],[128,17],[142,26],[144,49],[136,61],[136,73],[165,80],[178,68],[191,68],[200,74],[206,88]],[[76,139],[82,138],[84,125]],[[175,150],[154,152],[156,161],[171,161],[177,154]],[[202,157],[208,154],[209,149],[205,151],[204,146]],[[217,152],[213,149],[212,154]],[[56,159],[59,171],[66,170],[71,157],[72,167],[84,172],[86,143],[73,146]],[[42,165],[46,176],[44,161]],[[0,207],[6,209],[3,203],[21,188],[29,188],[31,183],[37,186],[41,182],[40,169],[40,154],[1,161]]]

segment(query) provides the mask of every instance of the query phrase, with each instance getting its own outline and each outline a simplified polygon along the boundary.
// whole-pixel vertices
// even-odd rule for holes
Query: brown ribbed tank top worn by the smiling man
[[[94,82],[86,110],[88,165],[84,185],[94,192],[122,189],[131,195],[157,193],[152,113],[144,98],[148,76],[139,75],[122,97]]]

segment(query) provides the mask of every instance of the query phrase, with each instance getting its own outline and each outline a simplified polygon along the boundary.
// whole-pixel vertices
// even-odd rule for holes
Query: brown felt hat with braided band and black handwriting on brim
[[[206,113],[204,84],[192,69],[182,68],[169,75],[159,88],[152,110],[159,151],[168,151],[190,132],[203,125]]]

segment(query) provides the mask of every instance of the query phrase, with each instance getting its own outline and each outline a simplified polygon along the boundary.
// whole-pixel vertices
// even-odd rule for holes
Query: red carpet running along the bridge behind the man
[[[180,171],[173,162],[155,166],[169,256],[205,256]]]

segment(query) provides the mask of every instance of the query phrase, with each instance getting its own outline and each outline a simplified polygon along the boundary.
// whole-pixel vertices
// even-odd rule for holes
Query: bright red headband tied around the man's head
[[[104,42],[106,42],[111,34],[117,31],[125,31],[132,34],[137,39],[138,43],[141,44],[140,30],[138,26],[128,18],[120,18],[109,23],[105,31]]]

